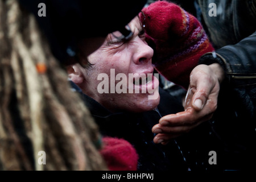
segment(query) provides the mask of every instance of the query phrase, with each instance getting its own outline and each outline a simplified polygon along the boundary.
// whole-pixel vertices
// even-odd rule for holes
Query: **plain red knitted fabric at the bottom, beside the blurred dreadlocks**
[[[136,171],[138,154],[126,140],[112,137],[102,138],[101,155],[110,171]]]

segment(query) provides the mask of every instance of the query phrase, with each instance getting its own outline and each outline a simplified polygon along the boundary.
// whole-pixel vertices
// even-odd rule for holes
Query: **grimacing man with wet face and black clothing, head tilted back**
[[[154,52],[146,42],[139,18],[134,18],[127,27],[133,31],[129,38],[119,40],[118,31],[109,34],[104,44],[88,56],[90,67],[73,64],[67,68],[69,78],[84,98],[101,133],[124,138],[134,145],[139,154],[139,170],[188,171],[191,167],[179,142],[172,140],[166,146],[156,144],[151,131],[164,115],[184,109],[181,100],[160,89],[157,75],[152,76]],[[130,74],[134,77],[130,78]],[[125,92],[129,89],[132,93]],[[148,92],[150,89],[154,93]],[[156,97],[149,99],[149,96]],[[208,153],[202,158],[208,160]]]

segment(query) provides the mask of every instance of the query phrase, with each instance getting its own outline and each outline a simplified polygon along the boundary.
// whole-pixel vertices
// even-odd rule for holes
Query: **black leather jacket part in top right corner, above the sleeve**
[[[233,45],[256,31],[255,0],[197,0],[210,39],[216,48]],[[210,3],[217,7],[210,16]]]

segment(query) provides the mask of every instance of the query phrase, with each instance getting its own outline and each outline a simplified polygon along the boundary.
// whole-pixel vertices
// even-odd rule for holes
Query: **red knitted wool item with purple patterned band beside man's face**
[[[142,12],[141,22],[155,47],[152,61],[156,70],[187,89],[199,58],[214,50],[199,20],[167,1],[151,3]]]

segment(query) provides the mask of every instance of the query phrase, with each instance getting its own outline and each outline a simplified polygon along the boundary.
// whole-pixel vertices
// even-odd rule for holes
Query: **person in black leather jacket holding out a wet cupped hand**
[[[171,2],[179,3],[201,19],[216,51],[203,55],[200,65],[191,73],[190,86],[194,90],[188,89],[188,101],[192,105],[183,113],[162,118],[162,121],[168,121],[169,126],[154,126],[154,130],[162,129],[154,141],[173,138],[175,126],[183,127],[183,133],[187,133],[191,126],[208,121],[210,116],[210,126],[220,139],[225,151],[222,154],[229,164],[224,168],[250,169],[251,163],[255,163],[256,148],[256,27],[251,23],[256,19],[256,1]],[[209,16],[209,3],[215,3],[217,16]],[[215,73],[218,79],[209,81]],[[217,97],[215,100],[209,97],[214,94],[214,84],[221,86],[218,100]],[[196,106],[197,99],[201,102]]]

